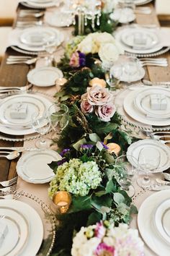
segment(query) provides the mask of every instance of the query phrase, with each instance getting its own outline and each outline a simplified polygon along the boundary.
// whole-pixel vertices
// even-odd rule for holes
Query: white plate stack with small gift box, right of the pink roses
[[[115,96],[117,113],[141,129],[169,130],[169,93],[169,88],[164,85],[132,85]]]

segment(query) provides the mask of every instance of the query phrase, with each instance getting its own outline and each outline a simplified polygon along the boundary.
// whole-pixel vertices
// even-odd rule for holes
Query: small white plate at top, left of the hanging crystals
[[[64,12],[49,12],[45,14],[45,22],[53,27],[68,27],[73,22],[72,14]]]

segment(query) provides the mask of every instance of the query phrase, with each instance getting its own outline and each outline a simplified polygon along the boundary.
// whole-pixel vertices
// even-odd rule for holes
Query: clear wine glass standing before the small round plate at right
[[[140,187],[146,185],[152,185],[155,183],[154,179],[149,176],[158,171],[161,161],[161,154],[156,148],[142,148],[138,155],[139,171],[145,173],[143,177],[137,179],[137,183]]]

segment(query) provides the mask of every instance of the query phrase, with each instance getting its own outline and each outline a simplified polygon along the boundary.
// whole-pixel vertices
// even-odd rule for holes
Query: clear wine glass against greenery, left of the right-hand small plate
[[[115,166],[118,172],[117,182],[129,197],[133,197],[135,187],[133,187],[132,182],[138,171],[138,160],[132,155],[120,155],[115,161]]]

